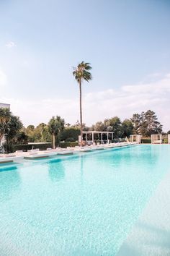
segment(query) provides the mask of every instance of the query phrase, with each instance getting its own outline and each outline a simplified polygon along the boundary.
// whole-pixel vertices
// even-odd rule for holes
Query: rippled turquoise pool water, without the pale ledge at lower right
[[[0,255],[116,255],[161,179],[169,145],[0,168]]]

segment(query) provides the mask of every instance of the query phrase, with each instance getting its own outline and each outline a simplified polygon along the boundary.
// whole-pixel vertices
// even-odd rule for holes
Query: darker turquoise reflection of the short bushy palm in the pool
[[[60,182],[64,179],[65,171],[62,161],[50,162],[48,166],[48,175],[52,182]]]

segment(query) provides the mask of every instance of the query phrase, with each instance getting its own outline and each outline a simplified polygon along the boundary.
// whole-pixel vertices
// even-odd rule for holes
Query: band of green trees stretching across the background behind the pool
[[[148,110],[141,114],[133,114],[130,119],[121,121],[118,116],[104,121],[97,121],[91,127],[83,124],[84,131],[95,130],[114,132],[114,139],[129,137],[132,134],[149,137],[162,133],[162,125],[155,112]],[[167,133],[170,133],[167,132]],[[27,142],[53,142],[53,147],[60,141],[75,142],[80,135],[79,121],[68,124],[61,116],[53,116],[48,124],[41,123],[37,127],[30,124],[24,127],[18,116],[14,116],[8,108],[0,108],[0,142],[6,138],[6,147]]]

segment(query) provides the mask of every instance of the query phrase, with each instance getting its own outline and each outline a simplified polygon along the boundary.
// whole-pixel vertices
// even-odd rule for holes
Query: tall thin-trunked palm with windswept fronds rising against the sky
[[[83,139],[83,129],[82,129],[82,104],[81,104],[81,83],[83,80],[89,82],[92,79],[91,73],[89,70],[91,69],[90,63],[86,63],[82,61],[78,64],[77,67],[73,68],[73,76],[75,77],[76,81],[79,83],[79,92],[80,92],[80,131],[81,131],[81,146],[82,146],[82,139]]]

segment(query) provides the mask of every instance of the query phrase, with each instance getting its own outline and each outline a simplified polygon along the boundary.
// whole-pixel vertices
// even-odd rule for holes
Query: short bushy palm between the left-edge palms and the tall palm
[[[61,116],[53,116],[48,123],[48,129],[50,134],[53,136],[53,148],[55,148],[55,137],[60,140],[61,132],[64,129],[65,121],[61,119]]]

